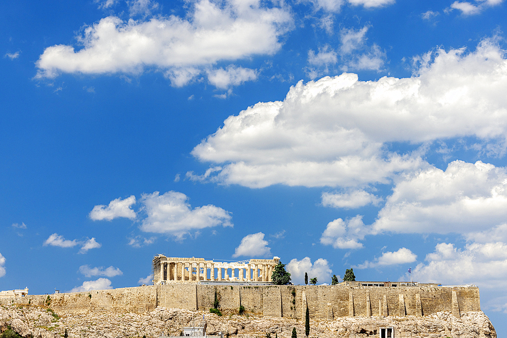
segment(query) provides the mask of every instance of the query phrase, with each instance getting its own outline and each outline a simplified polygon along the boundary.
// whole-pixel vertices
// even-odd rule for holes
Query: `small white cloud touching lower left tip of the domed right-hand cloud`
[[[320,237],[320,243],[333,245],[335,249],[360,249],[363,244],[358,240],[370,233],[371,230],[365,226],[361,215],[346,220],[338,218],[328,223]]]

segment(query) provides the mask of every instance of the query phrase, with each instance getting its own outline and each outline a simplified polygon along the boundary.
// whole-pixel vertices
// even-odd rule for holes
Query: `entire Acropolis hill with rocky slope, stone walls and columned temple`
[[[489,319],[481,311],[479,288],[476,286],[411,282],[273,285],[268,273],[277,259],[234,263],[232,267],[237,265],[234,269],[247,271],[245,276],[241,271],[234,272],[234,269],[229,273],[231,267],[223,262],[158,255],[154,258],[155,285],[24,297],[4,296],[0,297],[4,313],[0,318],[3,326],[7,325],[8,320],[8,325],[13,326],[13,318],[18,316],[16,323],[18,326],[27,326],[23,326],[26,332],[45,336],[44,331],[29,328],[30,321],[26,316],[33,309],[43,311],[51,308],[61,317],[60,326],[53,328],[58,333],[62,333],[60,331],[64,326],[70,328],[71,322],[74,326],[71,327],[73,335],[70,336],[78,337],[83,334],[79,331],[82,329],[76,328],[78,322],[89,322],[93,326],[93,323],[104,325],[108,321],[119,323],[131,318],[133,321],[157,322],[158,326],[151,328],[149,325],[140,325],[136,332],[139,334],[144,330],[148,332],[147,336],[158,336],[163,330],[179,333],[199,312],[196,315],[198,318],[205,314],[208,318],[206,321],[223,328],[223,331],[233,331],[233,334],[263,338],[269,331],[277,333],[280,338],[288,338],[291,332],[285,332],[285,329],[292,330],[294,326],[303,332],[308,307],[312,329],[316,330],[314,335],[319,337],[380,336],[381,327],[391,328],[393,337],[496,337]],[[213,264],[214,268],[211,268]],[[216,280],[213,280],[215,269],[219,271],[216,272]],[[225,315],[231,315],[230,318],[209,313],[215,297],[219,301],[219,309]],[[243,316],[237,315],[240,306],[245,310]],[[26,314],[23,309],[26,309]],[[16,311],[18,314],[14,315]],[[130,315],[125,317],[125,314]],[[23,319],[23,316],[26,318]],[[35,320],[35,317],[30,318]],[[179,319],[174,321],[169,317]],[[80,319],[73,322],[76,318]],[[248,323],[254,319],[258,325],[250,327]],[[121,332],[117,326],[111,325],[110,329],[115,332],[111,336],[135,335],[130,334],[134,324],[129,320],[129,324],[125,325],[130,328]],[[46,324],[41,326],[50,328]],[[260,327],[263,332],[259,334]],[[48,331],[49,336],[53,336],[53,330]],[[86,332],[91,331],[88,327]],[[96,336],[106,335],[106,331],[104,329]],[[208,330],[208,334],[212,332]]]

